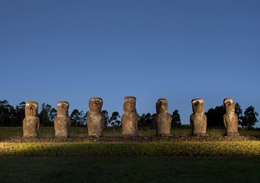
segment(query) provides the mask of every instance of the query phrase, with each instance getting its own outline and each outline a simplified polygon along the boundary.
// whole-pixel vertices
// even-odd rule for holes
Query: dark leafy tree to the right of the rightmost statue
[[[250,127],[252,129],[255,123],[258,122],[256,116],[258,116],[258,113],[254,112],[254,107],[248,107],[244,112],[244,117],[242,118],[241,125]]]

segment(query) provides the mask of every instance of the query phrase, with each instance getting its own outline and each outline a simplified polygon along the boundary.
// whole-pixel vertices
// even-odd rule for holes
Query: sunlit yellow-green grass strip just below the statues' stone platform
[[[260,141],[154,143],[0,143],[12,156],[260,156]]]

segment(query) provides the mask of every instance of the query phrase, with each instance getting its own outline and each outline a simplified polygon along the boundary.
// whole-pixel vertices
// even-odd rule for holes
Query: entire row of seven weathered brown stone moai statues
[[[122,137],[137,136],[137,124],[139,115],[136,112],[136,97],[124,97],[124,114],[122,115]],[[235,103],[231,98],[224,99],[226,114],[224,124],[227,136],[239,136],[238,118],[234,113]],[[191,100],[193,114],[190,115],[191,135],[206,136],[207,116],[204,114],[203,99]],[[105,114],[101,112],[103,100],[94,97],[89,100],[90,113],[87,116],[87,126],[89,136],[103,136],[105,126]],[[70,137],[71,119],[68,115],[69,103],[59,101],[57,106],[57,116],[54,118],[55,137]],[[24,137],[38,136],[39,118],[36,117],[38,103],[35,101],[26,102],[25,115],[23,121]],[[156,114],[153,117],[156,136],[170,136],[171,115],[168,112],[167,99],[159,98],[156,103]]]

